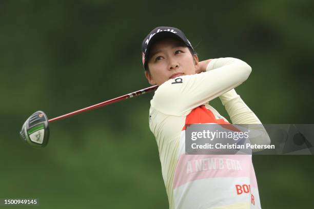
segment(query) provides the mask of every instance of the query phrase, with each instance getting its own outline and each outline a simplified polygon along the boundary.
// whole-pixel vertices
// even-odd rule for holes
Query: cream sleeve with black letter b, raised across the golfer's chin
[[[240,59],[212,59],[206,72],[164,82],[155,91],[151,106],[164,114],[187,115],[192,109],[239,86],[250,73],[251,67]]]

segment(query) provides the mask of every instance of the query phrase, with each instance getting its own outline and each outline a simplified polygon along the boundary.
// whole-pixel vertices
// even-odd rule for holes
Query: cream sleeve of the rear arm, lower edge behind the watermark
[[[222,94],[219,98],[225,106],[232,123],[243,124],[242,126],[250,131],[249,140],[251,144],[270,144],[270,138],[262,122],[234,89]],[[253,152],[258,151],[261,150],[253,150]]]

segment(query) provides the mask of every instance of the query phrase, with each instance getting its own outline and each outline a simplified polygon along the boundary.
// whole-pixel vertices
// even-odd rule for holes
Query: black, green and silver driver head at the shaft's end
[[[46,147],[49,140],[48,117],[43,111],[33,113],[23,124],[21,138],[34,148]]]

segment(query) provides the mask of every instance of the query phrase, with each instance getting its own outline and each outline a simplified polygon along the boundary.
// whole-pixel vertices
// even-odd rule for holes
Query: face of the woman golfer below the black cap
[[[180,40],[167,38],[156,42],[150,49],[145,76],[151,85],[162,85],[167,80],[192,75],[199,67],[197,55],[192,55]]]

